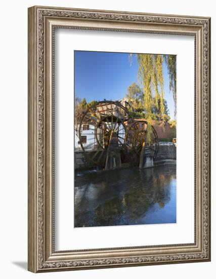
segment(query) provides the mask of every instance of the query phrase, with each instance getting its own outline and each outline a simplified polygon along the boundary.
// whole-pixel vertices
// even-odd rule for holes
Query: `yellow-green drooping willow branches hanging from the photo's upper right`
[[[164,82],[163,62],[165,62],[169,75],[169,88],[173,92],[176,115],[176,56],[158,54],[136,54],[138,61],[138,79],[144,91],[144,110],[146,120],[151,124],[153,117],[152,108],[160,111],[163,122],[165,121],[164,108]],[[132,54],[130,55],[132,59]],[[151,141],[152,127],[148,125],[147,140]]]

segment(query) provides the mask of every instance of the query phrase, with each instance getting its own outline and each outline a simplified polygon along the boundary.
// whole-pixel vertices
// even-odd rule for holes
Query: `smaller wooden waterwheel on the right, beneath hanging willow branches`
[[[156,130],[151,125],[150,141],[148,141],[148,125],[149,124],[145,120],[137,120],[127,129],[124,145],[127,149],[127,156],[134,165],[139,164],[143,145],[145,145],[145,156],[149,156],[153,158],[153,160],[157,156],[158,136]]]

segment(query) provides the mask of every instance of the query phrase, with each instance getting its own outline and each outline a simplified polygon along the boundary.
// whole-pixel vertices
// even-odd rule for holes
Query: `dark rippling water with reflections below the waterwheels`
[[[176,166],[75,175],[75,227],[176,223]]]

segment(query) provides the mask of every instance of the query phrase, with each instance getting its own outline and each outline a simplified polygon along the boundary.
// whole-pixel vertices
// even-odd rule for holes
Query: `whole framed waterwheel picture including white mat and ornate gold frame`
[[[210,18],[28,9],[28,270],[210,261]]]

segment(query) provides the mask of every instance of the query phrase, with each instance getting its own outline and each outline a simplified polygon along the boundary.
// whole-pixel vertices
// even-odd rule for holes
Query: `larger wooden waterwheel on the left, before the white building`
[[[123,149],[128,115],[127,109],[119,102],[107,100],[98,102],[83,114],[79,124],[80,146],[90,162],[104,167],[110,144],[113,151]],[[86,123],[88,133],[83,129]],[[83,143],[82,136],[86,134],[87,142]]]

